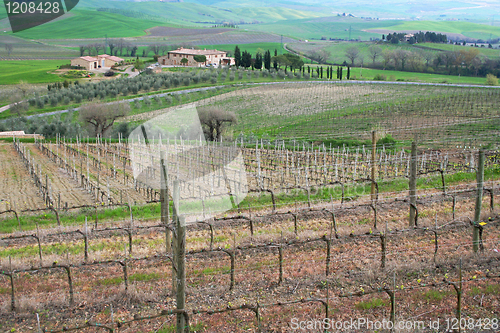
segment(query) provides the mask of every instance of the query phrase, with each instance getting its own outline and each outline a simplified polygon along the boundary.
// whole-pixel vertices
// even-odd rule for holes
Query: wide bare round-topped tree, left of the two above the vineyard
[[[94,132],[104,136],[116,119],[124,117],[130,111],[128,103],[87,104],[80,108],[80,120],[88,123]]]

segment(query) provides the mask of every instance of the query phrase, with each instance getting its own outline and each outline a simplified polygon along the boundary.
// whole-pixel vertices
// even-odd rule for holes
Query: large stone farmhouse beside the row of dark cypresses
[[[197,62],[194,60],[194,56],[204,55],[207,58],[205,62]],[[187,62],[181,62],[183,58],[187,59]],[[168,52],[167,55],[158,57],[158,62],[161,65],[170,66],[192,66],[192,67],[202,67],[210,64],[215,64],[216,66],[231,66],[234,65],[234,58],[228,57],[227,52],[218,50],[195,50],[195,49],[185,49],[178,48]]]

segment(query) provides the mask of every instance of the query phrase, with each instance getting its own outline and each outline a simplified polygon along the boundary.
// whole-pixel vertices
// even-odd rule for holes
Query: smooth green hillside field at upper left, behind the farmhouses
[[[133,37],[146,34],[146,29],[165,24],[119,14],[75,10],[66,19],[56,20],[41,26],[16,33],[27,39],[66,39]]]

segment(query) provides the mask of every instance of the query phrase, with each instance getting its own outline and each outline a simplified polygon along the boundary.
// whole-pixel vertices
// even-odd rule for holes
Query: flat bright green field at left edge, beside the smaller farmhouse
[[[68,60],[4,60],[0,61],[0,84],[47,83],[63,81],[58,75],[50,72]]]

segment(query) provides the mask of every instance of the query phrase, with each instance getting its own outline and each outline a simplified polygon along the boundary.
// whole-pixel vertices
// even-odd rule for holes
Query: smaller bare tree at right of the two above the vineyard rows
[[[233,112],[225,112],[217,107],[198,109],[198,116],[205,138],[209,141],[220,141],[225,126],[236,123]]]

